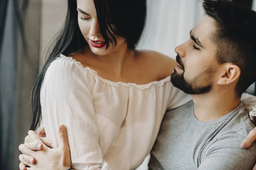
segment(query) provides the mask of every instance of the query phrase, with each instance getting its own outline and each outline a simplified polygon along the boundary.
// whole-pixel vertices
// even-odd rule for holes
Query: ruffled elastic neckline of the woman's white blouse
[[[150,82],[148,84],[143,84],[143,85],[138,85],[136,83],[113,82],[111,80],[104,79],[104,78],[100,77],[98,75],[97,71],[94,71],[90,67],[84,67],[81,64],[81,62],[77,61],[76,59],[73,59],[73,57],[67,57],[67,56],[65,56],[63,54],[60,54],[60,57],[67,58],[67,59],[70,59],[70,61],[76,62],[79,65],[79,67],[81,67],[81,69],[83,69],[87,73],[93,75],[93,77],[96,77],[97,79],[99,79],[101,82],[103,82],[105,84],[108,84],[108,85],[111,85],[111,86],[115,86],[115,87],[119,87],[121,85],[121,86],[124,86],[124,87],[133,86],[133,87],[136,87],[136,88],[139,88],[139,89],[146,89],[146,88],[150,88],[152,85],[163,86],[163,85],[166,84],[166,82],[171,82],[171,76],[168,76],[168,77],[166,77],[164,79],[161,79],[159,81],[154,81],[154,82]]]

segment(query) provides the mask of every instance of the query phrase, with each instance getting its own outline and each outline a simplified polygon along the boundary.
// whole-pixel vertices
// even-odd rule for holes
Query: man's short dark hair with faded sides
[[[235,89],[241,96],[256,81],[256,12],[230,0],[203,0],[203,8],[217,27],[217,61],[241,69]]]

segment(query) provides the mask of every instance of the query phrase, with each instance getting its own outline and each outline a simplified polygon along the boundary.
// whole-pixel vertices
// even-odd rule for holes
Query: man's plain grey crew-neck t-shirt
[[[193,102],[166,112],[151,150],[150,170],[251,170],[256,143],[242,149],[241,142],[255,125],[241,103],[211,122],[201,122]]]

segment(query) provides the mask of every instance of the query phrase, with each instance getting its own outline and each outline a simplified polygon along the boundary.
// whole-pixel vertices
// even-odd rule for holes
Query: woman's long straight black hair
[[[107,43],[116,46],[116,35],[125,38],[128,48],[134,49],[143,33],[146,20],[146,0],[94,0],[99,30]],[[60,54],[69,54],[87,46],[84,36],[78,25],[76,0],[68,0],[67,17],[64,27],[59,32],[54,48],[49,54],[47,62],[39,74],[32,89],[33,119],[30,130],[35,130],[40,124],[41,103],[40,91],[44,81],[44,75],[49,65]]]

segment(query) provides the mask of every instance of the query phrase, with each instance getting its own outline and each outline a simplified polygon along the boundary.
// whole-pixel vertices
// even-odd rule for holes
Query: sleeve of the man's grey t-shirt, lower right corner
[[[256,144],[248,149],[240,147],[247,131],[222,135],[201,156],[198,170],[252,170],[256,161]]]

